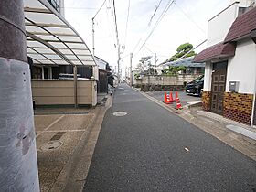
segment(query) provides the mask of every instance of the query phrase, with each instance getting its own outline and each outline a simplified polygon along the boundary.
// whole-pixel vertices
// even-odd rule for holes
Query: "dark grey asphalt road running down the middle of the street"
[[[122,84],[84,191],[256,191],[256,162]]]

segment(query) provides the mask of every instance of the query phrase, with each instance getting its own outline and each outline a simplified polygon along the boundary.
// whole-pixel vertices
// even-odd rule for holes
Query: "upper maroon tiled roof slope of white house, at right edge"
[[[256,7],[237,17],[229,28],[229,33],[226,36],[224,43],[235,41],[240,37],[249,36],[254,29],[256,29]]]

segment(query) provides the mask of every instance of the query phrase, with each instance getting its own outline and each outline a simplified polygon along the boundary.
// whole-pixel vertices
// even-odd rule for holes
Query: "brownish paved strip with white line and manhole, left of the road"
[[[111,95],[95,108],[37,109],[35,128],[40,190],[81,191]],[[81,162],[82,161],[82,162]]]

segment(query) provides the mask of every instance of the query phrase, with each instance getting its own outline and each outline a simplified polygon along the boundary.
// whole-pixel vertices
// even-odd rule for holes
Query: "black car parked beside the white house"
[[[186,92],[187,94],[197,94],[201,96],[202,89],[204,87],[204,75],[187,83]]]

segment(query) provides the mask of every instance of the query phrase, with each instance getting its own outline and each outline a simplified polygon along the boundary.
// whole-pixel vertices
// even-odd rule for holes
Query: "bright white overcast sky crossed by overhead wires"
[[[91,18],[96,15],[103,2],[104,0],[64,0],[65,18],[79,32],[91,52]],[[123,75],[125,68],[130,66],[130,53],[133,53],[134,69],[142,57],[154,56],[156,53],[157,64],[160,64],[173,56],[176,48],[183,43],[189,42],[196,47],[207,39],[208,20],[230,4],[230,0],[176,0],[155,27],[171,0],[130,0],[128,23],[129,0],[114,2]],[[149,23],[157,5],[159,7]],[[95,56],[106,60],[112,69],[116,69],[118,51],[112,10],[112,0],[106,0],[95,16]],[[152,35],[146,40],[152,31]],[[206,45],[195,51],[198,53],[204,48]]]

